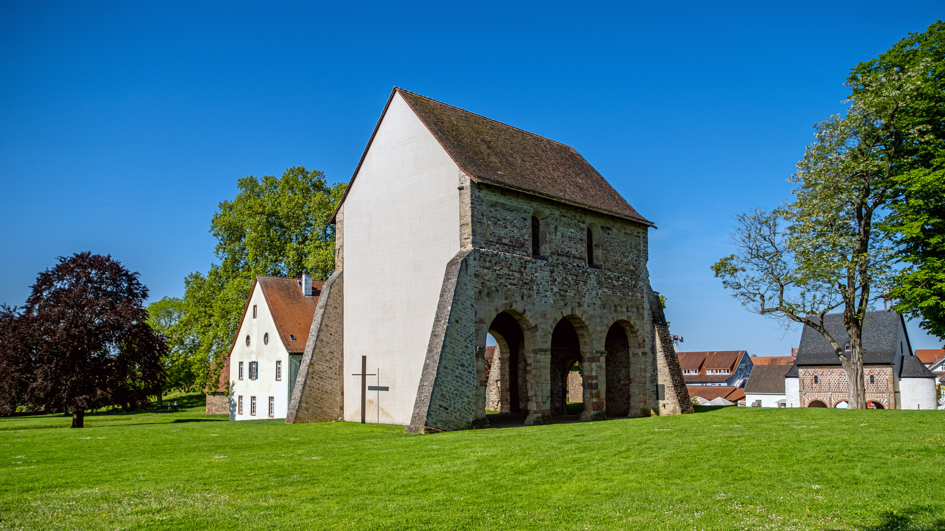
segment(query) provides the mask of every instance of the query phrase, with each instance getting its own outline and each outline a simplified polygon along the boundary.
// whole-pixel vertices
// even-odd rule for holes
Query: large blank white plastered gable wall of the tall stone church
[[[459,250],[459,167],[394,94],[344,213],[344,414],[361,419],[361,356],[380,368],[369,422],[408,424],[446,265]],[[368,377],[369,385],[378,383]]]

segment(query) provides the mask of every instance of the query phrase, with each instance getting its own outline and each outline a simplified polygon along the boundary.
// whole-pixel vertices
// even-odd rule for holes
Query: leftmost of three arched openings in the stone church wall
[[[493,407],[500,413],[525,413],[528,392],[525,385],[524,334],[519,321],[508,312],[492,319],[489,334],[495,338],[486,394],[497,395]],[[490,389],[490,386],[492,388]]]

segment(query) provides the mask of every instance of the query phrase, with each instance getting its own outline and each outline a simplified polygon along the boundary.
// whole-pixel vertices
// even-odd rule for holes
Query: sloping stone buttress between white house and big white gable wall
[[[321,287],[286,424],[344,418],[344,273]]]

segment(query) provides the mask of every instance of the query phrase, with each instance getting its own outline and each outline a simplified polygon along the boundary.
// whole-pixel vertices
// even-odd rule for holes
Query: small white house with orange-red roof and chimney
[[[321,281],[257,276],[230,350],[230,420],[284,419]]]

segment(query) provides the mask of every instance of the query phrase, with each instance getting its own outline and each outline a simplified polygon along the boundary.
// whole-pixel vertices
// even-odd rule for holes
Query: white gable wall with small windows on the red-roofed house
[[[301,289],[301,288],[300,288]],[[252,306],[256,318],[252,318]],[[269,334],[269,343],[263,341]],[[249,347],[246,336],[249,335]],[[276,361],[283,362],[283,378],[276,380]],[[259,378],[249,380],[249,362],[259,362]],[[239,362],[243,362],[243,379],[239,379]],[[289,355],[285,351],[272,313],[266,304],[263,288],[256,283],[249,295],[249,306],[236,334],[236,346],[230,357],[230,420],[269,419],[269,397],[275,398],[274,419],[284,419],[288,411]],[[243,396],[243,414],[237,414],[237,400]],[[250,397],[256,397],[256,415],[249,415]]]

